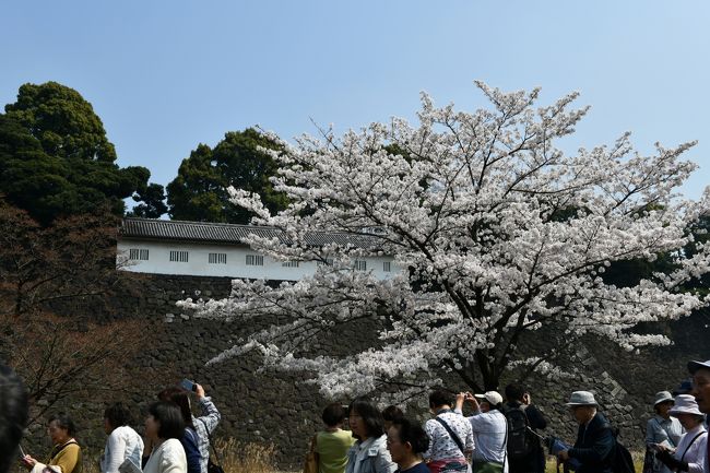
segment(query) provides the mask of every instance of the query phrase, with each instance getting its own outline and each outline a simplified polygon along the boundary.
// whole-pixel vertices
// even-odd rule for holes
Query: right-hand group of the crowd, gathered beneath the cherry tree
[[[693,378],[671,393],[655,394],[647,426],[644,473],[710,473],[707,414],[710,360],[690,362]],[[543,473],[546,458],[577,473],[615,473],[624,449],[617,429],[590,391],[565,403],[578,425],[573,445],[545,435],[547,421],[520,385],[472,395],[442,390],[429,394],[431,418],[424,425],[390,405],[379,412],[365,398],[323,411],[326,429],[313,438],[318,473]],[[464,409],[470,415],[464,413]],[[343,430],[347,424],[351,431]],[[631,464],[627,468],[632,469]]]

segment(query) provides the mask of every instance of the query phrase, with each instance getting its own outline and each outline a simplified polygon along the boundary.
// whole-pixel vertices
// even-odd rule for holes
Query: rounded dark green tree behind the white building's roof
[[[190,157],[182,159],[178,176],[167,185],[170,217],[249,223],[251,214],[229,202],[229,186],[259,193],[271,212],[285,209],[285,196],[275,192],[269,181],[277,165],[259,150],[261,146],[279,150],[277,143],[252,128],[226,133],[214,149],[198,145]]]

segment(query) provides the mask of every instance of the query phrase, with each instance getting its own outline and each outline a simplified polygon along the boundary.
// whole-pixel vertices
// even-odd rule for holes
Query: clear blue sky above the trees
[[[119,165],[167,184],[198,143],[260,125],[282,138],[317,123],[414,119],[419,92],[459,108],[473,86],[570,91],[591,105],[565,146],[642,152],[699,144],[710,185],[710,2],[697,1],[37,1],[0,7],[0,103],[26,82],[78,90],[104,121]]]

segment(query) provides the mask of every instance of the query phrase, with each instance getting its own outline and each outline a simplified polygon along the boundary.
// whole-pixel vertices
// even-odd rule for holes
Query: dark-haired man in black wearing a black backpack
[[[508,449],[509,472],[510,473],[544,473],[545,472],[545,450],[543,449],[540,437],[535,435],[539,429],[547,427],[547,421],[542,413],[532,404],[530,393],[516,383],[506,386],[506,400],[504,413],[510,410],[522,410],[528,419],[528,426],[532,433],[528,434],[531,444],[530,452],[522,458],[514,458],[510,448]],[[507,415],[507,414],[506,414]],[[511,445],[511,433],[508,433],[508,446]]]

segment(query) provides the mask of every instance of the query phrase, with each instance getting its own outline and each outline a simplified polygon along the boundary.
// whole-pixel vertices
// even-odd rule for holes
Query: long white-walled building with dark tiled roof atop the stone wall
[[[206,222],[181,222],[127,217],[119,230],[117,262],[139,273],[193,276],[248,277],[297,281],[316,271],[316,261],[275,261],[244,244],[247,235],[282,238],[271,227]],[[368,235],[317,233],[312,245],[333,241],[365,247]],[[360,271],[388,279],[399,271],[392,257],[367,257],[353,261]]]

